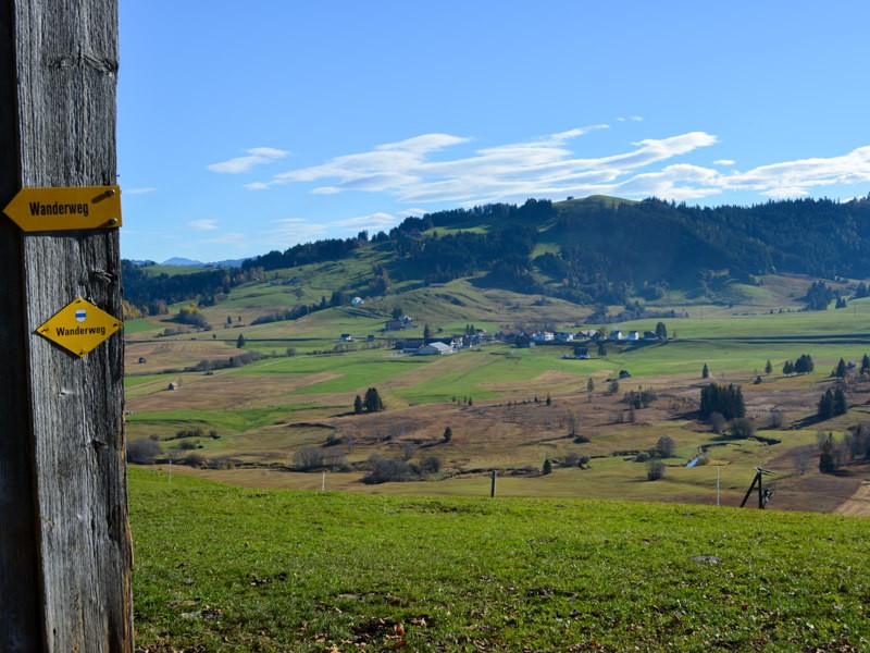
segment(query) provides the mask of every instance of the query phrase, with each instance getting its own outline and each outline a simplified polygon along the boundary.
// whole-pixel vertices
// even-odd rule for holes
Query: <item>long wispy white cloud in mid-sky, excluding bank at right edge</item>
[[[265,189],[287,183],[315,184],[311,193],[336,195],[347,190],[387,193],[417,202],[507,200],[529,194],[558,193],[594,183],[607,183],[629,171],[687,153],[717,143],[716,136],[692,132],[662,139],[645,139],[632,149],[594,159],[576,158],[571,143],[608,125],[559,132],[527,141],[481,148],[471,156],[433,160],[430,155],[471,139],[449,134],[424,134],[375,147],[368,152],[336,157],[320,165],[290,170],[266,182],[248,184]],[[328,184],[318,182],[328,181]]]

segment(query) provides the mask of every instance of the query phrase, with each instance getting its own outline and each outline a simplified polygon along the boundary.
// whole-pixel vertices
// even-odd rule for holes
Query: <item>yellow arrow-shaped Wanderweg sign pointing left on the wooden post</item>
[[[3,212],[26,232],[121,226],[121,187],[22,188]]]

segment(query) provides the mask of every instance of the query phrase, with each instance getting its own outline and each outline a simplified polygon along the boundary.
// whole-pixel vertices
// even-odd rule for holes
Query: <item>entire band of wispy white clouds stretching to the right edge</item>
[[[639,121],[639,116],[626,120],[635,118]],[[645,138],[622,151],[580,156],[579,139],[606,128],[608,125],[568,130],[526,141],[464,150],[453,157],[446,156],[450,148],[467,146],[472,139],[423,134],[370,151],[335,157],[319,165],[289,170],[247,187],[268,189],[303,183],[318,195],[356,190],[387,194],[411,206],[468,206],[594,194],[656,196],[678,201],[733,190],[799,197],[820,186],[870,182],[870,146],[841,157],[783,161],[747,171],[722,171],[680,161],[701,148],[721,145],[716,135],[707,132]],[[436,152],[439,156],[435,157]],[[713,165],[733,169],[736,162],[721,158]]]

